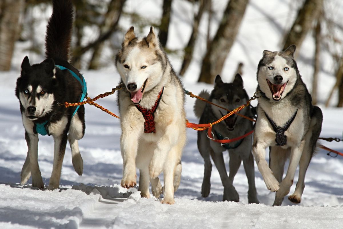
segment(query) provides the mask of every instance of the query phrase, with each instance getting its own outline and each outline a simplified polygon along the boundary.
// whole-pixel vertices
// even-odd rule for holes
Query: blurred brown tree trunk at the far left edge
[[[19,17],[23,14],[24,0],[0,1],[0,71],[9,71],[14,44],[19,38]]]

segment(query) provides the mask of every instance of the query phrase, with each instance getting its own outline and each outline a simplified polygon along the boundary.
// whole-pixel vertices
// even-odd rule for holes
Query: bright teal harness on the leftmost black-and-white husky
[[[86,94],[87,94],[87,85],[86,85],[86,81],[85,81],[83,75],[80,73],[81,78],[82,78],[82,79],[80,79],[80,77],[78,75],[76,75],[75,72],[73,72],[72,70],[70,70],[70,69],[68,69],[66,67],[63,67],[63,66],[60,66],[60,65],[55,65],[55,67],[57,67],[57,68],[59,68],[61,70],[67,69],[71,73],[71,75],[81,83],[82,94],[81,94],[80,102],[82,102],[84,100],[84,98],[86,97]],[[75,109],[75,111],[74,111],[74,113],[72,114],[71,117],[73,117],[75,115],[75,113],[76,113],[76,111],[78,111],[79,107],[80,107],[80,105],[78,105],[76,107],[76,109]],[[35,125],[33,127],[33,132],[35,134],[40,134],[40,135],[43,135],[43,136],[44,135],[49,135],[50,136],[49,129],[48,129],[48,120],[43,122],[43,123],[35,123]]]

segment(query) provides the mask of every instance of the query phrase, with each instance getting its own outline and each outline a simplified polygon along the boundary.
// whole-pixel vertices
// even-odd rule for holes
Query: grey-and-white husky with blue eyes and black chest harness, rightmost
[[[299,179],[292,195],[293,203],[300,203],[305,187],[305,173],[316,148],[323,115],[312,105],[311,95],[293,58],[295,45],[285,51],[263,51],[257,70],[258,99],[252,152],[264,182],[276,192],[273,205],[280,206],[293,184],[299,164]],[[269,166],[265,148],[270,147]],[[282,180],[285,161],[289,166]]]

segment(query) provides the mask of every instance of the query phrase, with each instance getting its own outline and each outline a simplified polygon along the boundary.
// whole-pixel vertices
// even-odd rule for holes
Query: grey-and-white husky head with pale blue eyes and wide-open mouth
[[[267,98],[280,101],[297,81],[297,67],[293,59],[295,46],[284,52],[263,51],[258,72],[258,83]]]

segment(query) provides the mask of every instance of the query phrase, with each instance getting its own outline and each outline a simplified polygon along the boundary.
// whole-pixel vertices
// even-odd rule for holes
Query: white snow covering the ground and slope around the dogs
[[[156,0],[130,0],[128,10],[159,15]],[[278,50],[282,32],[278,29],[289,27],[293,21],[295,6],[288,1],[251,1],[237,42],[232,48],[222,72],[224,81],[230,81],[237,62],[243,61],[244,83],[249,95],[256,88],[256,68],[264,49]],[[220,12],[224,1],[215,1],[215,10]],[[155,9],[153,6],[155,6]],[[141,7],[139,7],[141,6]],[[342,9],[342,4],[339,5]],[[145,10],[144,10],[145,9]],[[180,48],[187,42],[192,15],[184,15],[191,9],[190,3],[176,0],[173,9],[179,9],[170,28],[168,47]],[[182,10],[182,11],[181,11]],[[187,11],[188,12],[188,11]],[[155,15],[154,14],[154,15]],[[49,13],[46,15],[49,16]],[[123,20],[123,25],[130,21]],[[200,71],[200,56],[204,52],[203,39],[206,25],[202,25],[196,58],[183,79],[184,86],[194,94],[212,86],[196,83]],[[44,34],[45,28],[40,32]],[[214,28],[215,30],[215,28]],[[149,30],[144,31],[147,34]],[[267,32],[266,32],[267,31]],[[182,33],[181,33],[182,32]],[[182,35],[181,35],[182,34]],[[268,36],[266,36],[268,34]],[[271,207],[274,193],[265,187],[262,176],[255,165],[256,187],[261,204],[248,204],[248,184],[243,166],[239,169],[234,186],[240,196],[239,203],[221,202],[223,186],[218,172],[213,166],[211,194],[202,198],[203,160],[196,145],[196,131],[187,130],[187,145],[182,156],[182,179],[175,193],[175,205],[163,205],[155,198],[141,198],[137,188],[126,190],[120,187],[122,159],[119,146],[119,120],[86,105],[86,134],[79,141],[84,161],[84,172],[78,176],[71,163],[69,146],[62,167],[59,190],[32,190],[31,179],[26,186],[20,186],[20,171],[24,163],[27,146],[21,123],[19,101],[14,88],[19,76],[20,63],[25,55],[22,46],[16,49],[13,70],[0,72],[0,227],[2,228],[342,228],[343,224],[343,157],[332,158],[319,150],[312,159],[305,179],[305,191],[301,204],[293,204],[285,198],[281,207]],[[313,40],[309,35],[299,50],[298,67],[310,89]],[[170,56],[176,69],[180,67],[180,57]],[[31,59],[30,59],[31,60]],[[35,56],[33,62],[42,61]],[[334,83],[333,63],[327,54],[322,56],[320,72],[319,101],[327,98]],[[112,67],[99,71],[82,71],[87,81],[88,95],[114,88],[119,76]],[[187,97],[186,111],[190,122],[198,122],[192,112],[194,99]],[[118,114],[116,95],[98,101],[100,105]],[[332,101],[334,104],[335,101]],[[256,103],[255,103],[256,104]],[[343,121],[341,108],[324,108],[321,137],[342,138]],[[52,170],[53,140],[39,136],[38,159],[43,180],[48,184]],[[343,151],[342,142],[322,142],[332,149]],[[268,157],[268,156],[267,156]],[[224,153],[228,163],[228,155]],[[163,178],[163,177],[161,177]],[[297,181],[297,174],[295,182]],[[295,185],[291,188],[294,191]]]

